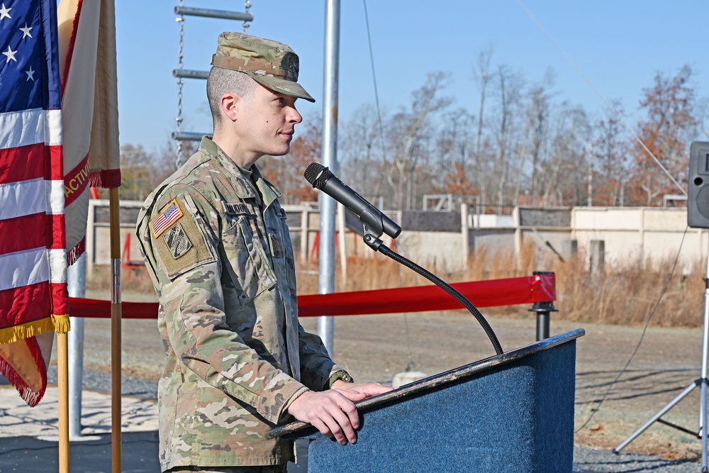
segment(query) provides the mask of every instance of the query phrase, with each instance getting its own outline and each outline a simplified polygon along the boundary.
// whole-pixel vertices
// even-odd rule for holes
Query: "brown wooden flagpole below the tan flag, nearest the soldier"
[[[111,223],[111,471],[121,473],[121,221],[118,187],[108,189]]]

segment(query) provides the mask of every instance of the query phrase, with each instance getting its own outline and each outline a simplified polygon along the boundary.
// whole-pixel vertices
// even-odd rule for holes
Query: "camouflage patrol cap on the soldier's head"
[[[217,39],[212,65],[244,72],[281,94],[315,101],[298,84],[298,55],[284,43],[227,31]]]

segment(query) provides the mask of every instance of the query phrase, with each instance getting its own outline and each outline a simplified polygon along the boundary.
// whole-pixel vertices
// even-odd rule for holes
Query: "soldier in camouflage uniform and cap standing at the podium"
[[[148,196],[138,238],[160,299],[167,362],[158,387],[163,471],[285,472],[293,445],[264,434],[292,416],[342,445],[355,384],[298,323],[293,249],[279,191],[255,163],[289,152],[302,120],[288,45],[222,33],[207,98],[213,138]]]

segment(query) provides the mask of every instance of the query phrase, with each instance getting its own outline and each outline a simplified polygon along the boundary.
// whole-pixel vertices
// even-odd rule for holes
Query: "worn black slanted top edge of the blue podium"
[[[393,391],[389,391],[369,399],[364,399],[364,401],[359,401],[354,405],[357,406],[357,411],[359,411],[359,413],[367,413],[367,411],[373,411],[384,404],[402,401],[425,391],[435,389],[439,386],[445,386],[446,384],[452,384],[462,379],[472,377],[489,369],[502,367],[503,365],[517,362],[525,357],[530,357],[536,353],[549,350],[558,345],[569,343],[585,334],[586,331],[583,328],[577,328],[576,330],[571,330],[560,335],[554,335],[553,337],[546,338],[545,340],[540,340],[538,342],[530,343],[529,345],[524,345],[523,347],[504,352],[501,355],[494,355],[476,362],[472,362],[469,365],[450,369],[447,372],[434,374],[433,376],[420,379],[417,382],[401,386]],[[287,435],[289,438],[297,438],[309,435],[311,430],[314,431],[314,429],[315,428],[308,423],[294,421],[269,430],[266,436],[267,438],[276,438]]]

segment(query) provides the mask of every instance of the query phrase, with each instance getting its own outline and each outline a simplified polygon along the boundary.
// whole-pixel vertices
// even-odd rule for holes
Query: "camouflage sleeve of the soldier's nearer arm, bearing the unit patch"
[[[290,401],[307,388],[262,360],[226,323],[223,268],[216,256],[218,213],[199,196],[191,196],[175,196],[184,215],[166,236],[152,238],[169,343],[200,379],[276,423]],[[163,212],[154,213],[152,221]]]

